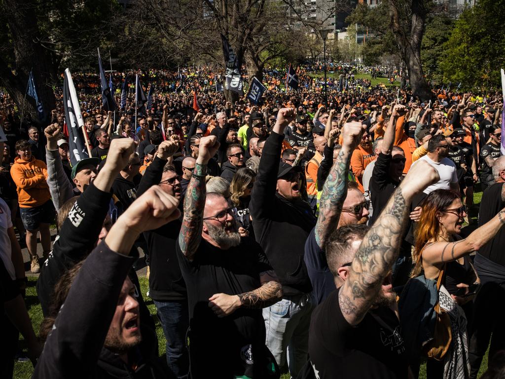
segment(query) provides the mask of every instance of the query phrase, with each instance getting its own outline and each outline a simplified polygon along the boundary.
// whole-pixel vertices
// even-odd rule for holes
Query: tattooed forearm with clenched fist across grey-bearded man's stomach
[[[238,308],[261,309],[282,299],[282,286],[273,270],[260,273],[261,287],[239,295],[215,294],[209,299],[209,307],[218,317],[232,314]]]

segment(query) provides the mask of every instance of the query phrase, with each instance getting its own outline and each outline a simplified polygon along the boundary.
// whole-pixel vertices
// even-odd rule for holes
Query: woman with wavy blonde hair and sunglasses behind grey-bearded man
[[[249,201],[251,199],[252,186],[256,180],[256,173],[250,168],[243,167],[237,170],[230,184],[231,203],[237,208],[235,219],[239,228],[244,230],[239,232],[254,238],[252,223],[249,215]]]

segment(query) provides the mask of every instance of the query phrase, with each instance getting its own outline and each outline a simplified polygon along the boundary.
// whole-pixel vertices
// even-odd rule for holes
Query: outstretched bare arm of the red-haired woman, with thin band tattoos
[[[424,264],[440,264],[455,261],[474,251],[478,251],[490,241],[505,224],[505,208],[498,212],[481,227],[475,229],[470,235],[456,242],[437,242],[423,250]]]

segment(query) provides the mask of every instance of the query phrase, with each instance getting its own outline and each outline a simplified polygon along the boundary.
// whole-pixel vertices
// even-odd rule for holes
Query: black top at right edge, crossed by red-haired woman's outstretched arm
[[[488,187],[480,202],[479,209],[479,227],[491,220],[496,214],[505,208],[505,202],[501,200],[501,189],[503,183],[495,183]],[[479,249],[479,254],[487,259],[505,266],[505,254],[503,254],[503,246],[505,246],[505,229],[498,230],[494,238]]]

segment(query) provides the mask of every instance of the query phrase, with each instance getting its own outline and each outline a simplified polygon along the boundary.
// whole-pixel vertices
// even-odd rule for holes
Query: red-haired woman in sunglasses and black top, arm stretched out
[[[469,255],[492,239],[503,226],[505,209],[466,239],[461,239],[458,234],[461,233],[466,207],[458,193],[436,189],[422,201],[421,207],[423,212],[416,228],[413,255],[416,265],[412,276],[424,273],[426,279],[436,282],[439,274],[443,275],[438,298],[440,306],[450,316],[452,331],[451,346],[443,361],[428,360],[427,377],[452,377],[447,372],[449,368],[468,373],[469,367],[467,329],[471,324],[471,300],[475,293],[471,295],[474,291],[469,291],[468,287],[479,281]]]

